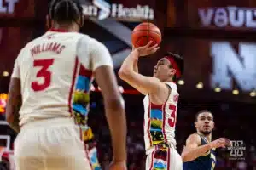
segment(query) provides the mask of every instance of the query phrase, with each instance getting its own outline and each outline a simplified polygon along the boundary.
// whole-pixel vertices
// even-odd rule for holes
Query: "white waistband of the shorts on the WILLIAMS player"
[[[33,122],[27,122],[21,126],[21,129],[38,128],[38,127],[54,127],[60,125],[75,125],[73,117],[56,117],[49,119],[39,119]]]

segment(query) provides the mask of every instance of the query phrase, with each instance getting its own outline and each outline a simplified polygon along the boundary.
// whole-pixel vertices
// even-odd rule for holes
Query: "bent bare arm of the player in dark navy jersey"
[[[201,138],[198,134],[191,134],[186,140],[186,146],[182,152],[183,162],[193,161],[199,156],[203,156],[212,148],[211,144],[201,146]]]

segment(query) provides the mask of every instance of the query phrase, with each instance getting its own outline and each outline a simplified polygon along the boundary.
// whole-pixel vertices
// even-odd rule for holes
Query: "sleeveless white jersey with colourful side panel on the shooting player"
[[[171,89],[164,105],[154,105],[146,95],[144,104],[144,141],[148,150],[157,144],[173,144],[176,146],[175,126],[177,117],[177,85],[165,82]]]

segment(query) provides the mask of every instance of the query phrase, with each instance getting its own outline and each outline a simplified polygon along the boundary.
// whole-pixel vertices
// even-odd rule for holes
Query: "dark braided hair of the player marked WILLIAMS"
[[[83,8],[79,2],[74,0],[52,0],[49,4],[49,18],[58,23],[77,22],[82,19]],[[82,20],[81,20],[82,21]],[[81,26],[83,23],[77,23]]]

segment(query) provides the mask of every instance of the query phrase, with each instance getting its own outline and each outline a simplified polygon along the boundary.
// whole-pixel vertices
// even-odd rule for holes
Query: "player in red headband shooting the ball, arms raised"
[[[137,60],[157,51],[157,45],[135,48],[125,59],[119,77],[146,95],[144,103],[144,140],[146,169],[182,169],[176,150],[175,125],[178,92],[175,82],[183,73],[183,59],[168,53],[154,66],[154,77],[138,73]]]

